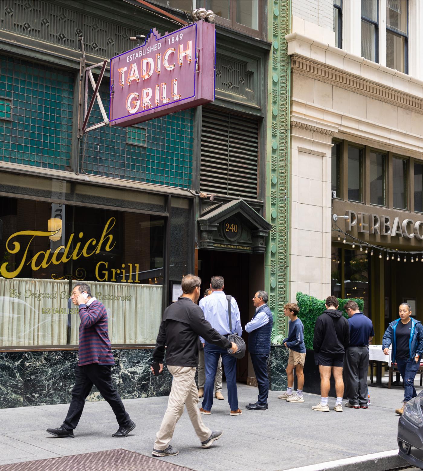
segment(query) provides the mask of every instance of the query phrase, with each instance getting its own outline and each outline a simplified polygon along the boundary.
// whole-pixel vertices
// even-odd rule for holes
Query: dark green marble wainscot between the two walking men
[[[164,364],[163,373],[155,377],[150,370],[153,349],[120,350],[119,393],[123,399],[167,396],[172,385],[172,376]]]

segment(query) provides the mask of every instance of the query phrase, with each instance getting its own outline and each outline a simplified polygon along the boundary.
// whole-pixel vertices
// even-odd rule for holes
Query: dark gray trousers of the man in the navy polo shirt
[[[345,352],[344,372],[347,398],[354,406],[367,406],[368,347],[348,347]]]

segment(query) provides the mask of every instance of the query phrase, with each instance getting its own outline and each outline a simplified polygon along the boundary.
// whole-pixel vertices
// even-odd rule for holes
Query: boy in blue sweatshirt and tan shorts
[[[290,350],[286,374],[288,377],[288,389],[278,396],[279,399],[286,399],[287,402],[304,402],[304,363],[306,361],[306,345],[304,343],[304,325],[297,317],[299,307],[297,304],[285,304],[283,312],[290,318],[288,338],[283,339],[283,344]],[[294,368],[297,375],[297,392],[293,393]]]

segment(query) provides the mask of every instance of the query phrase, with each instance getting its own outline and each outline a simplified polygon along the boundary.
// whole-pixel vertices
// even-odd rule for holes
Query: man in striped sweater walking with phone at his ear
[[[85,405],[85,398],[94,384],[116,415],[119,429],[113,437],[126,437],[135,428],[125,411],[119,393],[112,382],[112,365],[115,364],[108,338],[107,311],[103,304],[91,296],[88,284],[77,284],[72,290],[72,302],[79,306],[79,361],[75,367],[75,386],[66,419],[57,429],[47,431],[58,438],[73,439],[74,429]]]

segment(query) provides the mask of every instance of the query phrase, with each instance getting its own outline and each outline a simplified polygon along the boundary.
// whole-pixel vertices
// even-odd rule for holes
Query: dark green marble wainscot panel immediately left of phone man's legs
[[[77,361],[76,350],[25,352],[23,405],[70,402]]]

